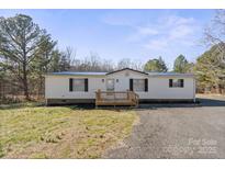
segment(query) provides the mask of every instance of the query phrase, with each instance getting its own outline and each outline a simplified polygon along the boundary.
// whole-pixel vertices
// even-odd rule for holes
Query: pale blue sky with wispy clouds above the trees
[[[77,58],[95,53],[145,63],[161,56],[172,68],[179,54],[193,61],[206,49],[201,41],[215,10],[0,10],[1,16],[16,13],[31,15]]]

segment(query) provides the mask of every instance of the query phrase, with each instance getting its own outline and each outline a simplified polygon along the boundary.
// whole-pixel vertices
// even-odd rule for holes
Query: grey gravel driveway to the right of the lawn
[[[132,135],[103,158],[225,158],[225,99],[142,105]]]

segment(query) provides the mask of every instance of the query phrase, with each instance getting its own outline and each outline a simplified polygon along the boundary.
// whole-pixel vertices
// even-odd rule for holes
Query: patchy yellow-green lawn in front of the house
[[[128,136],[133,111],[25,106],[0,110],[1,158],[100,158]]]

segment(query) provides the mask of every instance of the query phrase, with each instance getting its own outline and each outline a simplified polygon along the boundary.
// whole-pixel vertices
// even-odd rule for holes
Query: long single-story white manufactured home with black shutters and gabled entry
[[[194,102],[195,79],[192,74],[147,72],[130,68],[111,72],[64,71],[45,76],[47,104],[97,103],[103,99],[123,103],[124,97],[138,102]]]

